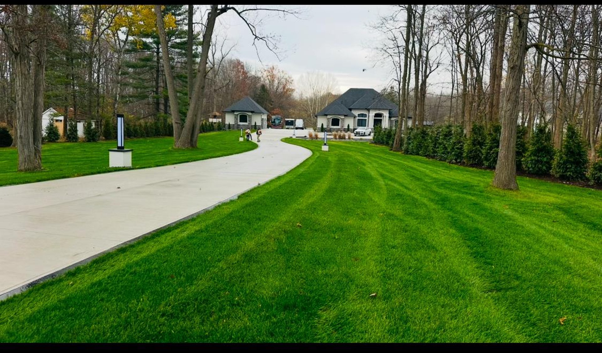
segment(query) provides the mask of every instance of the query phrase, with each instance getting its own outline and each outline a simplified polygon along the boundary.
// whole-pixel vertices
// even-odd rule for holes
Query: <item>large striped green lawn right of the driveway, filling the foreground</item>
[[[314,154],[2,301],[0,342],[602,342],[600,191],[289,142]]]

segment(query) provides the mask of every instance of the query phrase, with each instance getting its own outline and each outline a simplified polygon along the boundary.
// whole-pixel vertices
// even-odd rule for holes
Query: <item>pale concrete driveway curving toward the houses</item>
[[[241,154],[0,187],[0,300],[288,172],[311,155],[280,141],[291,135],[266,129]]]

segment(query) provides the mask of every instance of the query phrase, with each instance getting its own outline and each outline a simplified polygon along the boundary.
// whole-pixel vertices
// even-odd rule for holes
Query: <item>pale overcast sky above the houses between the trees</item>
[[[388,67],[374,66],[380,54],[377,34],[370,29],[379,16],[390,13],[391,5],[287,5],[282,8],[301,8],[302,18],[258,13],[255,19],[261,20],[261,33],[280,37],[278,46],[283,51],[280,61],[264,44],[257,43],[259,61],[251,45],[249,29],[233,11],[218,17],[216,38],[227,37],[231,45],[235,43],[230,57],[254,68],[277,65],[294,80],[308,71],[333,74],[338,80],[336,93],[349,88],[379,91],[391,82],[393,74]],[[433,74],[433,79],[435,76]]]

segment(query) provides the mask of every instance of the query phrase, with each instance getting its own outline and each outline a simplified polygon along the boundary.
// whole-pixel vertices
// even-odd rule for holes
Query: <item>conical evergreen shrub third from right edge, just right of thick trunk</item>
[[[523,157],[523,168],[527,173],[547,175],[554,162],[554,146],[550,129],[538,125],[533,131]]]

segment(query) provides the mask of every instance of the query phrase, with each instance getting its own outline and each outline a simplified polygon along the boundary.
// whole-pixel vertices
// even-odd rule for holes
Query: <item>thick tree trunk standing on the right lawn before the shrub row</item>
[[[508,58],[505,109],[501,121],[500,151],[493,186],[500,189],[518,190],[516,140],[520,86],[523,78],[524,59],[527,50],[527,26],[530,5],[517,5],[512,28],[512,41]]]

